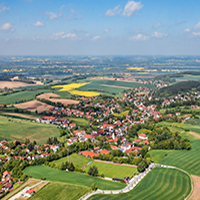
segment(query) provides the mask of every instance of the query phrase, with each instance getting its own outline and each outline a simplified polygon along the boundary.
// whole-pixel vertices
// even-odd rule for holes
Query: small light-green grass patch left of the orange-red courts
[[[64,157],[64,158],[61,158],[59,160],[55,160],[51,163],[55,163],[56,165],[61,165],[62,162],[66,162],[68,161],[68,157]],[[78,154],[72,154],[69,156],[69,162],[73,162],[73,164],[77,167],[77,168],[81,168],[83,167],[84,165],[86,165],[87,163],[89,163],[90,161],[92,161],[91,158],[87,158],[85,156],[80,156]]]

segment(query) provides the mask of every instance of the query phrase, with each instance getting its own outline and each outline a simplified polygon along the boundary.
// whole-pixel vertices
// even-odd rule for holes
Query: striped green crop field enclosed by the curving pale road
[[[190,177],[175,169],[153,169],[131,192],[119,195],[99,194],[90,200],[182,200],[191,191]]]

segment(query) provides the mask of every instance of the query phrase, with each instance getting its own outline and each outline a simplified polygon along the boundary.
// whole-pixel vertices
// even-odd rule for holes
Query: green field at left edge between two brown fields
[[[0,96],[0,104],[14,104],[15,102],[22,100],[34,100],[35,94],[38,93],[48,93],[52,92],[51,90],[33,90],[33,91],[21,91],[14,94]]]

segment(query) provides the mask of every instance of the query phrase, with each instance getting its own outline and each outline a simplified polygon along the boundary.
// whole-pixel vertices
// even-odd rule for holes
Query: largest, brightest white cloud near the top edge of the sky
[[[135,1],[128,1],[124,7],[123,16],[130,17],[131,15],[136,14],[136,12],[143,8],[143,4]]]

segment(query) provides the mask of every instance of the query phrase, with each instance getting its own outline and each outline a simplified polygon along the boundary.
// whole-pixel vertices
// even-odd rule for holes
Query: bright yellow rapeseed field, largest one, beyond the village
[[[56,86],[53,86],[52,88],[62,88],[59,91],[68,91],[70,94],[79,95],[79,96],[93,97],[93,96],[100,95],[100,93],[97,93],[97,92],[75,90],[87,84],[90,84],[90,83],[89,82],[88,83],[71,83],[68,85],[56,85]]]

